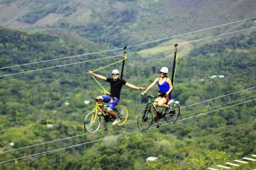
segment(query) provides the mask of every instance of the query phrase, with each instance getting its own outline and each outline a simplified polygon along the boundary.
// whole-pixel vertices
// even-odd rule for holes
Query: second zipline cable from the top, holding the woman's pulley
[[[245,30],[250,30],[250,29],[253,29],[253,28],[256,28],[256,26],[251,27],[251,28],[246,28],[246,29],[243,29],[243,30],[238,30],[238,31],[230,32],[230,33],[224,33],[224,34],[220,34],[220,35],[216,35],[216,36],[211,36],[211,37],[207,37],[207,38],[203,38],[203,39],[199,39],[199,40],[194,40],[194,41],[190,41],[190,42],[184,42],[184,43],[180,43],[179,45],[184,45],[184,44],[188,44],[188,43],[192,43],[192,42],[196,42],[196,41],[202,41],[202,40],[206,40],[206,39],[210,39],[210,38],[215,38],[215,37],[219,37],[219,36],[223,36],[223,35],[228,35],[228,34],[231,34],[231,33],[237,33],[237,32],[241,32],[241,31],[245,31]],[[160,47],[160,48],[154,48],[154,49],[148,49],[148,50],[144,50],[144,51],[132,52],[132,53],[128,53],[127,55],[130,55],[130,54],[137,54],[137,53],[143,53],[143,52],[147,52],[147,51],[152,51],[152,50],[157,50],[157,49],[163,49],[163,48],[169,48],[169,47],[174,47],[174,45],[166,46],[166,47]],[[3,75],[3,76],[0,76],[0,77],[12,76],[12,75],[22,74],[22,73],[28,73],[28,72],[32,72],[32,71],[39,71],[39,70],[45,70],[45,69],[52,69],[52,68],[63,67],[63,66],[72,65],[72,64],[78,64],[78,63],[86,63],[86,62],[91,62],[91,61],[96,61],[96,60],[102,60],[102,59],[106,59],[106,58],[113,58],[113,57],[122,56],[122,55],[123,55],[123,54],[121,54],[121,55],[114,55],[114,56],[110,56],[110,57],[104,57],[104,58],[98,58],[98,59],[93,59],[93,60],[87,60],[87,61],[82,61],[82,62],[69,63],[69,64],[64,64],[64,65],[59,65],[59,66],[52,66],[52,67],[47,67],[47,68],[43,68],[43,69],[36,69],[36,70],[23,71],[23,72],[18,72],[18,73]]]

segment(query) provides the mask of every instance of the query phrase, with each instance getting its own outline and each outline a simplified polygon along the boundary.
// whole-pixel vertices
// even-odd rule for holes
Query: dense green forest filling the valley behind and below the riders
[[[26,19],[25,17],[23,19]],[[255,37],[256,31],[244,32],[228,38],[205,41],[204,44],[193,44],[194,47],[189,55],[180,56],[173,84],[173,99],[180,102],[180,107],[184,107],[253,87],[256,84]],[[79,43],[61,34],[25,33],[0,27],[0,68],[101,50],[104,49],[92,42]],[[1,69],[0,72],[1,75],[7,75],[122,53],[118,51],[79,56]],[[84,134],[84,116],[93,107],[92,100],[92,105],[84,104],[84,100],[89,100],[90,95],[99,95],[101,91],[87,74],[87,70],[118,61],[122,57],[1,77],[0,151]],[[160,68],[166,66],[163,63],[168,63],[167,67],[171,70],[172,60],[172,57],[162,52],[147,56],[128,55],[124,79],[134,85],[147,87],[158,76]],[[121,64],[108,67],[98,73],[110,77],[110,72],[114,68],[120,70]],[[212,75],[225,77],[210,78]],[[109,90],[108,83],[102,82],[102,85]],[[157,87],[154,87],[148,94],[156,94],[156,92]],[[13,161],[13,164],[1,168],[206,169],[210,166],[214,167],[256,154],[255,100],[228,107],[253,100],[255,95],[255,89],[251,89],[182,108],[178,122],[167,125],[161,122],[162,126],[159,129],[156,129],[154,124],[154,128],[147,131],[83,144],[34,159],[18,162],[22,160],[19,159],[16,163]],[[65,105],[66,102],[69,105]],[[0,162],[139,130],[136,122],[133,121],[145,107],[145,98],[139,95],[139,91],[123,87],[120,104],[127,106],[129,110],[127,124],[123,126],[112,127],[109,124],[107,131],[100,130],[93,134],[4,152],[1,153]],[[223,107],[228,108],[214,111]],[[183,120],[189,115],[210,111],[214,112]],[[49,124],[52,127],[49,127]],[[12,142],[13,146],[10,145]],[[146,158],[149,156],[158,157],[158,161],[146,163]],[[255,166],[255,163],[250,163],[237,169],[252,169]]]

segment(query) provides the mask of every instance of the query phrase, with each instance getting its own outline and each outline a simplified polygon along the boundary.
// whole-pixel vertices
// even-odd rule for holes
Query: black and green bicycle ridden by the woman
[[[140,93],[140,94],[142,94],[142,93]],[[161,119],[161,118],[164,118],[165,121],[168,123],[174,123],[175,121],[177,121],[177,119],[179,118],[179,115],[180,115],[180,107],[178,104],[176,104],[176,103],[169,104],[169,107],[171,107],[169,113],[166,113],[164,111],[164,107],[162,108],[162,112],[159,112],[154,105],[154,102],[157,102],[157,101],[155,101],[153,99],[153,98],[157,98],[157,96],[153,96],[153,95],[148,96],[146,94],[144,94],[144,95],[147,96],[149,98],[149,100],[148,100],[148,104],[146,105],[146,108],[144,110],[142,110],[138,115],[137,124],[141,130],[147,130],[153,123],[153,114],[151,112],[151,107],[153,107],[157,113],[156,128],[160,127],[159,119]]]

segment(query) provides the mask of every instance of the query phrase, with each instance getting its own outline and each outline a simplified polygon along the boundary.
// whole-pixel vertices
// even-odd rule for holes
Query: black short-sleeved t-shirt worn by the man
[[[107,78],[106,82],[110,83],[111,96],[120,99],[120,92],[126,81],[120,78],[118,78],[116,81],[114,81],[113,78]]]

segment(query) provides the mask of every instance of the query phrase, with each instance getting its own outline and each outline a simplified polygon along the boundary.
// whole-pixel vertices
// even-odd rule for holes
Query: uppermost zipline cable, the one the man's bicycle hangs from
[[[227,24],[219,25],[219,26],[213,26],[213,27],[209,27],[209,28],[204,28],[204,29],[201,29],[201,30],[192,31],[192,32],[189,32],[189,33],[183,33],[183,34],[180,34],[180,35],[175,35],[175,36],[171,36],[171,37],[167,37],[167,38],[163,38],[163,39],[158,39],[158,40],[154,40],[154,41],[144,42],[144,43],[141,43],[141,44],[129,46],[127,48],[131,48],[131,47],[135,47],[135,46],[140,46],[140,45],[148,44],[148,43],[151,43],[151,42],[166,40],[166,39],[170,39],[170,38],[174,38],[174,37],[178,37],[178,36],[182,36],[182,35],[187,35],[187,34],[190,34],[190,33],[196,33],[196,32],[200,32],[200,31],[212,29],[212,28],[217,28],[217,27],[220,27],[220,26],[226,26],[226,25],[230,25],[230,24],[234,24],[234,23],[238,23],[238,22],[242,22],[242,21],[246,21],[246,20],[250,20],[250,19],[254,19],[254,18],[256,18],[256,17],[247,18],[247,19],[243,19],[243,20],[239,20],[239,21],[235,21],[235,22],[230,22],[230,23],[227,23]],[[44,62],[61,60],[61,59],[66,59],[66,58],[78,57],[78,56],[84,56],[84,55],[92,55],[92,54],[104,53],[104,52],[115,51],[115,50],[120,50],[120,49],[123,49],[123,48],[116,48],[116,49],[99,51],[99,52],[93,52],[93,53],[87,53],[87,54],[82,54],[82,55],[74,55],[74,56],[69,56],[69,57],[62,57],[62,58],[56,58],[56,59],[51,59],[51,60],[44,60],[44,61],[39,61],[39,62],[33,62],[33,63],[26,63],[26,64],[19,64],[19,65],[14,65],[14,66],[2,67],[2,68],[0,68],[0,70],[1,69],[6,69],[6,68],[11,68],[11,67],[17,67],[17,66],[23,66],[23,65],[29,65],[29,64],[36,64],[36,63],[44,63]]]

